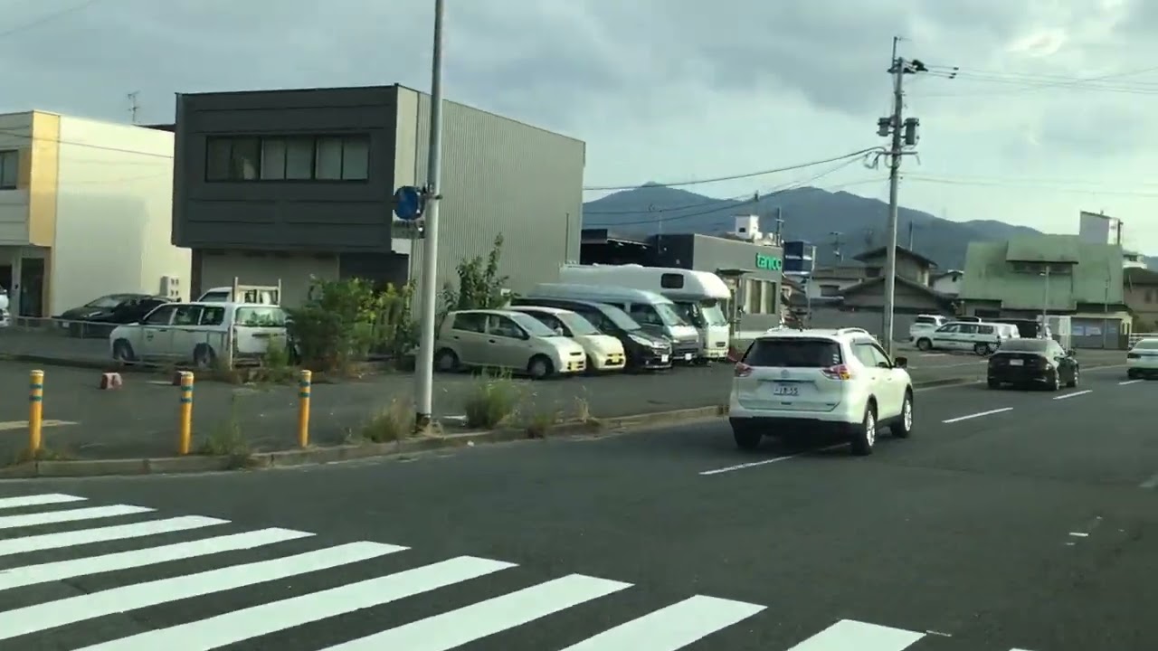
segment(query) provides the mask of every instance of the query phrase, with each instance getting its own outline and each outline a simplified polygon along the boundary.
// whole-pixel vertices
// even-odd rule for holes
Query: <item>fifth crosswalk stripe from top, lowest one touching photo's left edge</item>
[[[404,547],[352,542],[284,558],[259,561],[154,581],[113,587],[0,613],[0,639],[53,629],[94,617],[192,599],[308,572],[368,561]]]

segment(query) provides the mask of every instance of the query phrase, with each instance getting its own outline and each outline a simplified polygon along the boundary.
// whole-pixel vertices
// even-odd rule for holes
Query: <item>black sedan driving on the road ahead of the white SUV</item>
[[[1005,385],[1058,390],[1078,386],[1080,365],[1054,339],[1009,339],[989,357],[989,388]]]

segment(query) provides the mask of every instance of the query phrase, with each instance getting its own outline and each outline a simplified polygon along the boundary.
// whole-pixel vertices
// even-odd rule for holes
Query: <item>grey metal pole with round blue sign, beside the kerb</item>
[[[442,17],[445,0],[434,0],[434,53],[431,66],[430,152],[426,168],[424,210],[422,315],[419,349],[415,374],[415,426],[426,429],[434,412],[434,321],[438,314],[438,209],[442,185]]]

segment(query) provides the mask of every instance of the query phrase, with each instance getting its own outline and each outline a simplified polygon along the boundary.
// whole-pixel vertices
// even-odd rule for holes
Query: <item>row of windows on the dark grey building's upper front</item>
[[[206,181],[366,181],[369,137],[218,137],[205,145]]]

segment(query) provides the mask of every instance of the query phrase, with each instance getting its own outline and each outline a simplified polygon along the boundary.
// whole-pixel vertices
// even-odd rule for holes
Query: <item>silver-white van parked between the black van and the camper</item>
[[[616,286],[540,283],[523,298],[570,299],[614,305],[626,312],[645,331],[667,337],[672,342],[673,360],[692,361],[703,358],[699,332],[680,316],[672,299],[655,292]]]

